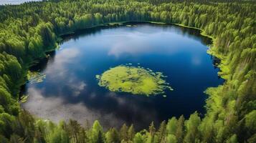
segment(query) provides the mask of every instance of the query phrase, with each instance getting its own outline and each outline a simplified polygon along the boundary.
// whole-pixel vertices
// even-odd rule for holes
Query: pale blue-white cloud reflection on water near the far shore
[[[113,36],[113,34],[112,34]],[[146,34],[141,32],[127,33],[117,35],[119,39],[110,43],[110,49],[108,49],[108,55],[115,56],[116,58],[122,56],[123,54],[130,54],[133,56],[138,56],[138,54],[176,54],[177,52],[186,51],[194,52],[189,49],[189,47],[179,46],[179,42],[183,42],[184,37],[180,34],[173,34],[166,31],[156,31],[153,34]],[[159,37],[163,37],[159,39]],[[167,38],[167,39],[166,39]],[[170,43],[171,39],[175,39],[176,42]],[[186,39],[189,41],[189,39]],[[193,41],[194,44],[200,44],[199,41]],[[158,48],[156,48],[158,47]],[[194,50],[194,49],[193,49]]]

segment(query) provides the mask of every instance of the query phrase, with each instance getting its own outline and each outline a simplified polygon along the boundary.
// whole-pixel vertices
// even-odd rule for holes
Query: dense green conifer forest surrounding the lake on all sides
[[[51,0],[0,6],[0,142],[256,142],[255,1]],[[29,66],[54,49],[60,35],[121,21],[156,21],[202,29],[225,79],[206,93],[207,114],[173,117],[136,132],[103,130],[98,121],[54,124],[19,107]]]

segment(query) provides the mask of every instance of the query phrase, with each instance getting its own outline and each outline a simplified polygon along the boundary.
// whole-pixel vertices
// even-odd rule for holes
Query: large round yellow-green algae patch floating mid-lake
[[[131,64],[115,66],[102,75],[96,75],[100,87],[111,92],[128,92],[146,96],[165,94],[166,89],[173,90],[161,72],[131,66]]]

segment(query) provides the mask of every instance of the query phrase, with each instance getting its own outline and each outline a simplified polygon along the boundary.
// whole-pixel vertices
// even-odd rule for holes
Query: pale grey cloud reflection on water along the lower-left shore
[[[26,104],[22,104],[22,107],[37,117],[50,119],[53,122],[75,119],[81,124],[85,124],[86,120],[92,124],[95,119],[106,119],[110,126],[114,126],[119,121],[112,114],[103,115],[98,111],[88,109],[82,102],[69,104],[61,97],[44,97],[42,90],[44,89],[29,88],[28,92],[33,96],[29,97]]]

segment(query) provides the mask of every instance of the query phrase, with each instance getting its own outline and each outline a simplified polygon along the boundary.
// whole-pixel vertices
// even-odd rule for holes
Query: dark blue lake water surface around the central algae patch
[[[135,124],[147,128],[170,117],[197,111],[204,114],[207,87],[217,87],[214,59],[207,54],[211,40],[195,29],[171,25],[137,24],[85,30],[66,37],[60,49],[32,69],[46,74],[44,82],[25,87],[24,109],[54,122],[76,119],[103,127]],[[96,74],[132,63],[161,71],[174,89],[167,97],[144,97],[109,92],[98,86]]]

